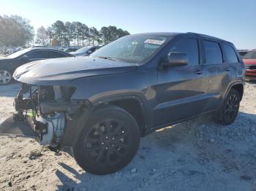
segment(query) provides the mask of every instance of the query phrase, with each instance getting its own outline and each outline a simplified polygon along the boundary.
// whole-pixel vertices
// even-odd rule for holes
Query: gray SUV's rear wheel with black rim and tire
[[[237,90],[231,89],[227,98],[222,103],[222,107],[217,113],[217,122],[222,125],[230,125],[236,120],[240,106],[240,95]]]

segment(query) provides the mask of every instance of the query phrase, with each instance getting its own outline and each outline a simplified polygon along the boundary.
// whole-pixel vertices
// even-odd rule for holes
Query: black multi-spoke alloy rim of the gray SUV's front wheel
[[[92,163],[115,165],[120,163],[131,147],[129,129],[123,128],[117,119],[97,122],[83,141],[83,149],[88,152]]]

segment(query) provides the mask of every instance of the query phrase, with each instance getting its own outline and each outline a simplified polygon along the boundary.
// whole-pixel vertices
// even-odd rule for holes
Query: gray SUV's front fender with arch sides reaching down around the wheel
[[[72,100],[87,100],[90,109],[74,114],[67,122],[63,144],[73,146],[78,139],[81,127],[86,124],[91,112],[101,104],[111,101],[135,99],[143,112],[148,128],[152,124],[152,108],[157,95],[157,71],[131,71],[125,74],[111,74],[86,79],[76,79],[72,82],[76,87]]]

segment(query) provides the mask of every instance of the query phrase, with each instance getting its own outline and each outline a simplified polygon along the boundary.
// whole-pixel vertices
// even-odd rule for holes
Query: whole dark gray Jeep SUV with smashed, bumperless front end
[[[154,130],[208,113],[223,125],[234,122],[244,73],[236,47],[222,39],[124,36],[87,58],[20,66],[13,77],[23,87],[9,125],[23,134],[29,127],[30,136],[56,152],[72,147],[92,174],[110,174],[124,168],[140,137]]]

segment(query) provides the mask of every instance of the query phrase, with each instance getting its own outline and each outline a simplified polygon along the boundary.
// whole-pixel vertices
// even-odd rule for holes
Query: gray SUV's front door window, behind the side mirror
[[[170,52],[182,52],[187,54],[189,63],[188,65],[199,64],[199,53],[197,39],[181,39],[173,44]]]

